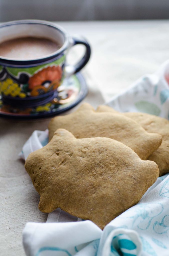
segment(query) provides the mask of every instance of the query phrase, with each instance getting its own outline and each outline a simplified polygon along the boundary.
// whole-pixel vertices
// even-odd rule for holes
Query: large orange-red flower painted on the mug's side
[[[28,81],[29,89],[33,90],[36,86],[48,88],[54,81],[57,81],[57,85],[59,86],[61,78],[62,68],[60,66],[44,68],[30,77]]]

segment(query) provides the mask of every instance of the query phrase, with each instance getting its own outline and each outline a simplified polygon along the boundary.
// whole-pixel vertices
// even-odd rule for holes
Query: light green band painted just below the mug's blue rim
[[[60,59],[55,60],[51,63],[47,63],[47,64],[43,64],[43,65],[39,65],[36,67],[30,67],[30,68],[11,68],[11,67],[6,67],[7,71],[9,73],[11,73],[14,76],[18,76],[19,72],[26,72],[29,73],[30,75],[33,75],[37,70],[44,68],[44,67],[49,67],[49,66],[53,66],[53,65],[60,65],[64,62],[65,60],[65,55],[63,55]]]

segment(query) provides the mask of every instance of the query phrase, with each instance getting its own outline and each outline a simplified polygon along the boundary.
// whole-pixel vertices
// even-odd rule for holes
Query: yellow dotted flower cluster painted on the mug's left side
[[[4,95],[10,95],[12,97],[26,97],[26,94],[24,92],[21,92],[21,88],[18,86],[18,84],[10,78],[7,78],[5,81],[0,82],[0,92]]]

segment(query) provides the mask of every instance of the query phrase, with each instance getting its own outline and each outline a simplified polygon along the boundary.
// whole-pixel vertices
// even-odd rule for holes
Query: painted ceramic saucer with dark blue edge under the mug
[[[86,81],[80,73],[65,79],[57,90],[57,98],[32,108],[11,106],[0,99],[0,116],[14,119],[36,119],[57,115],[76,106],[88,92]]]

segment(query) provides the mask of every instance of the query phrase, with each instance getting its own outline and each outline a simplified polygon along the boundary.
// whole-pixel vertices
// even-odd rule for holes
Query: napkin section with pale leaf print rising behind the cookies
[[[105,104],[120,112],[145,112],[169,119],[169,61]]]

